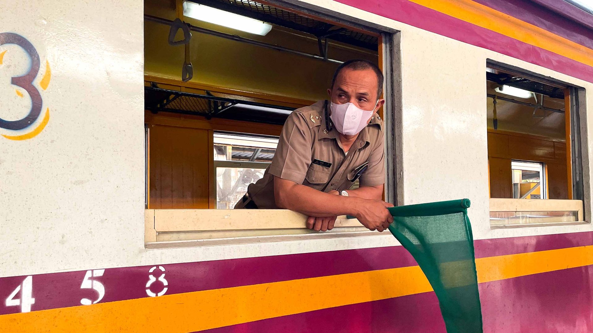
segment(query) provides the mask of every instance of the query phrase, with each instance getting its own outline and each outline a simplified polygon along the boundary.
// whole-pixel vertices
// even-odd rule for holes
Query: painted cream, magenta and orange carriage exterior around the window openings
[[[477,15],[470,10],[476,8],[470,1],[455,2],[456,8],[464,9],[459,12],[463,15],[449,10],[447,5],[452,1],[343,1],[353,7],[327,0],[307,2],[401,31],[403,163],[398,167],[403,180],[399,190],[405,204],[471,198],[475,238],[488,239],[477,243],[476,252],[480,256],[482,247],[493,253],[479,258],[488,272],[480,285],[487,331],[591,331],[591,264],[586,261],[591,248],[583,247],[591,245],[587,241],[590,236],[583,236],[590,233],[575,233],[591,231],[591,225],[489,228],[484,110],[486,59],[591,91],[593,60],[586,34],[575,37],[566,29],[535,24],[573,42],[568,43],[521,22],[514,21],[509,27],[504,21],[500,24],[496,12]],[[5,7],[0,32],[24,36],[40,59],[51,64],[51,85],[43,92],[43,103],[50,105],[52,116],[43,131],[28,140],[0,137],[0,276],[5,277],[0,280],[0,304],[4,304],[2,313],[11,313],[0,316],[3,328],[30,331],[27,328],[43,325],[39,331],[81,331],[79,328],[92,325],[92,331],[157,327],[162,331],[265,332],[276,326],[288,328],[284,331],[315,332],[325,325],[324,331],[331,332],[339,327],[334,325],[343,324],[358,332],[394,331],[396,326],[408,328],[408,332],[442,330],[436,299],[422,284],[422,274],[406,261],[410,258],[406,259],[401,247],[378,248],[397,245],[390,235],[302,237],[285,242],[280,237],[270,242],[146,251],[142,1],[28,0]],[[484,17],[487,20],[482,20]],[[533,17],[515,18],[532,25],[535,22]],[[525,29],[538,34],[526,34]],[[14,67],[18,71],[25,71],[27,65],[25,58],[19,58],[18,47],[4,47],[0,46],[0,54],[4,54],[2,103],[7,96],[21,98],[8,84],[14,73],[9,73],[6,65],[21,66]],[[586,104],[593,105],[591,94]],[[5,109],[0,112],[0,117],[6,117]],[[583,115],[585,134],[591,132],[589,114]],[[586,142],[591,140],[586,138]],[[590,146],[585,145],[587,202]],[[552,243],[564,245],[554,248],[541,241],[554,236],[537,236],[509,245],[515,252],[497,252],[498,242],[506,239],[496,238],[553,233],[559,235]],[[581,241],[573,243],[572,239]],[[337,250],[349,250],[353,255]],[[288,254],[298,255],[282,256]],[[272,263],[264,264],[268,260]],[[208,270],[212,261],[221,266]],[[401,267],[390,267],[395,262]],[[572,268],[564,269],[569,267],[566,262],[571,262]],[[260,264],[267,269],[260,269]],[[179,277],[184,265],[198,275]],[[230,273],[222,273],[224,265],[229,265]],[[149,270],[155,266],[155,281],[147,287]],[[165,270],[161,280],[158,266]],[[101,267],[107,269],[101,272]],[[236,267],[242,267],[242,274],[236,274]],[[94,269],[99,271],[95,276],[91,271],[91,288],[81,289],[87,270]],[[72,272],[55,273],[59,271]],[[112,271],[122,275],[114,274],[120,278],[113,280]],[[32,276],[33,311],[12,313],[20,305],[7,307],[5,300],[23,298],[21,290],[12,297],[10,294],[18,286],[25,290],[27,276]],[[351,283],[347,293],[342,286],[340,290],[327,287],[338,278],[334,276]],[[417,280],[406,280],[406,288],[389,289],[393,294],[385,294],[385,286],[410,277]],[[316,278],[321,280],[308,280]],[[247,284],[238,282],[243,279]],[[164,290],[162,280],[167,281],[167,291],[149,297],[147,288],[154,294]],[[100,288],[93,281],[104,283],[103,297],[97,304],[79,305],[84,298],[99,298],[101,293],[93,289]],[[314,284],[317,281],[323,283]],[[352,284],[354,281],[359,284]],[[276,295],[282,296],[266,299],[266,288],[275,286],[292,286],[292,293],[276,289]],[[112,288],[121,292],[112,294]],[[241,293],[250,303],[227,297],[231,293]],[[264,301],[277,306],[263,306],[267,304]],[[200,306],[202,312],[194,312],[188,305]],[[213,305],[230,309],[227,313],[233,315],[214,316]],[[36,306],[46,310],[38,311]],[[273,309],[279,310],[272,313]],[[177,314],[167,317],[162,311]],[[231,324],[235,326],[218,328]]]

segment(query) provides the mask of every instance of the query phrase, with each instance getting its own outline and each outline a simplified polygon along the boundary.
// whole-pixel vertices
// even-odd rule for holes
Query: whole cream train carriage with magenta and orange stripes
[[[387,232],[233,209],[351,59],[385,75],[385,201],[472,202],[484,332],[593,331],[586,2],[2,9],[0,331],[445,332]]]

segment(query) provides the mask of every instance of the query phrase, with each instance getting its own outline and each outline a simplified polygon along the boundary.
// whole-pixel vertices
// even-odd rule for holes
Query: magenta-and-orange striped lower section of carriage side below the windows
[[[541,307],[550,307],[546,320],[530,324],[528,332],[550,325],[572,325],[575,332],[593,328],[593,321],[585,316],[593,306],[588,283],[593,273],[593,232],[482,240],[476,241],[476,251],[487,332],[523,326],[522,318],[539,316]],[[143,331],[152,325],[171,332],[225,326],[230,327],[221,332],[266,332],[297,321],[296,327],[311,325],[305,331],[315,332],[313,327],[326,331],[324,326],[331,324],[321,314],[338,316],[345,309],[358,315],[333,329],[401,331],[427,325],[435,332],[444,329],[428,281],[401,246],[100,271],[1,278],[0,290],[6,294],[22,286],[9,299],[25,300],[23,294],[28,293],[34,302],[27,305],[33,310],[30,313],[18,313],[22,303],[0,305],[4,314],[0,325],[11,331],[84,331],[91,326]],[[87,278],[100,287],[81,284]],[[32,281],[30,291],[21,284],[27,279]],[[81,305],[84,299],[97,304]],[[424,302],[428,304],[422,311],[407,313]],[[553,302],[567,306],[553,306]],[[384,305],[393,308],[382,313],[396,318],[378,324],[374,314],[379,315]],[[401,311],[407,314],[401,316]],[[370,317],[362,315],[365,312]],[[127,316],[132,313],[135,318]],[[199,315],[181,320],[190,313]],[[162,320],[146,321],[155,316]],[[427,316],[433,320],[425,321]]]

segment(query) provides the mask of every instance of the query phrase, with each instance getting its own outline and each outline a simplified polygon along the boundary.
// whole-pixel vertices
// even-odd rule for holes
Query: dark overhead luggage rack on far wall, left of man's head
[[[295,110],[295,108],[291,107],[216,97],[209,94],[208,91],[203,95],[163,89],[156,84],[144,87],[144,95],[145,109],[152,113],[192,114],[206,117],[208,120],[219,117],[283,124],[288,114]]]

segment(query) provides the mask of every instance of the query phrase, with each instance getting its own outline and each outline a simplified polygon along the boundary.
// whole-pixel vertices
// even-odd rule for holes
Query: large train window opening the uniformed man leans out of
[[[206,20],[196,14],[205,7],[266,24],[266,33]],[[262,178],[292,110],[327,99],[337,66],[365,59],[393,78],[391,36],[254,1],[145,0],[146,242],[312,233],[293,212],[290,220],[233,208]],[[391,82],[386,121],[388,89]],[[393,177],[386,192],[394,193]],[[359,230],[340,217],[332,232]]]

